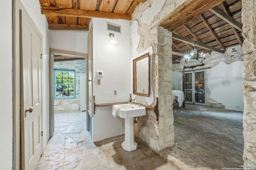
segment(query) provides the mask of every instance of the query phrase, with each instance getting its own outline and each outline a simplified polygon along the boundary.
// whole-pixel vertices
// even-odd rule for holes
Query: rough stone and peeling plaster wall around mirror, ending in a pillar
[[[172,94],[172,61],[166,60],[166,57],[170,57],[171,59],[171,56],[168,56],[170,53],[166,56],[163,55],[167,54],[166,52],[168,50],[172,50],[172,35],[171,33],[165,32],[164,29],[158,27],[158,25],[185,1],[186,0],[147,0],[145,3],[140,3],[132,14],[132,25],[137,24],[138,28],[133,30],[131,27],[131,35],[132,31],[136,31],[138,32],[137,38],[139,37],[138,44],[133,43],[133,37],[131,39],[132,57],[139,57],[137,53],[146,53],[149,48],[152,48],[153,51],[151,57],[151,87],[153,94],[151,93],[150,96],[154,96],[154,102],[149,103],[148,101],[151,100],[142,96],[135,96],[133,99],[135,102],[154,106],[156,97],[159,97],[159,121],[156,121],[154,112],[147,109],[147,115],[140,117],[140,130],[138,132],[138,137],[155,151],[160,151],[174,145],[172,96],[168,96]],[[158,36],[158,34],[162,33],[170,37],[170,40],[164,39],[163,43],[163,39],[160,40],[162,35]],[[159,46],[158,41],[160,41],[160,44],[162,43]],[[166,74],[168,74],[168,76],[165,79],[162,76]],[[167,81],[166,84],[163,83],[165,81]]]

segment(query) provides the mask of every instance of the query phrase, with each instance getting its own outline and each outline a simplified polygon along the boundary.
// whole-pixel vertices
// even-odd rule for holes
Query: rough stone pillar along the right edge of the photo
[[[242,0],[244,165],[256,165],[256,0]]]

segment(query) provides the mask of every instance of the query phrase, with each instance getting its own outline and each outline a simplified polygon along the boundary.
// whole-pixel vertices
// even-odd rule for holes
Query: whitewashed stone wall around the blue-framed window
[[[76,71],[76,98],[70,99],[54,99],[54,111],[74,111],[79,110],[79,89],[80,76],[79,73],[85,74],[85,59],[75,61],[54,62],[54,68]]]

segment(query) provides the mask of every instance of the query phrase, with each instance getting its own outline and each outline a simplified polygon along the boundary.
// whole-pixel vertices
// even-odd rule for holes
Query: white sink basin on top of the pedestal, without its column
[[[118,111],[118,116],[122,118],[131,118],[146,115],[146,108],[142,106],[139,107],[138,105],[135,106],[134,104],[120,104],[118,106],[122,107]]]

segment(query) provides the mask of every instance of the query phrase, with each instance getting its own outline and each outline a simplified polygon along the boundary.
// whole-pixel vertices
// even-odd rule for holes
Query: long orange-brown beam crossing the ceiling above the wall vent
[[[55,6],[41,5],[41,13],[44,15],[67,16],[67,17],[82,17],[82,18],[108,18],[131,20],[130,14],[120,14],[113,12],[102,12],[94,10],[80,10],[73,8],[60,8]]]

